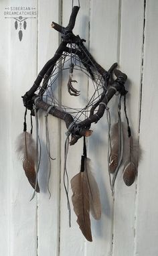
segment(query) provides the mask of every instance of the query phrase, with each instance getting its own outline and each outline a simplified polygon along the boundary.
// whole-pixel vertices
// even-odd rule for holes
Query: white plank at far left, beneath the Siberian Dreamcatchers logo
[[[24,0],[13,0],[8,4],[10,7],[33,7],[37,11],[37,0],[29,0],[27,2]],[[25,16],[25,13],[21,14],[21,16]],[[17,15],[13,15],[13,17],[17,17]],[[9,134],[11,152],[9,170],[11,250],[9,255],[35,256],[37,255],[36,199],[34,198],[34,200],[29,202],[33,189],[27,182],[21,161],[17,160],[15,138],[23,131],[25,108],[23,107],[21,95],[30,88],[37,70],[37,17],[27,19],[27,29],[22,29],[23,38],[21,42],[18,37],[19,27],[15,30],[15,19],[8,19],[7,21],[10,22],[9,120],[11,126]],[[29,131],[29,115],[27,116],[27,129]]]

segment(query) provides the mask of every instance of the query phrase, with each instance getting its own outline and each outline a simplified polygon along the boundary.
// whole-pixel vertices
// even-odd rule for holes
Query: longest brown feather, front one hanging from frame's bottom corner
[[[90,228],[90,199],[88,190],[88,180],[86,172],[76,174],[71,180],[72,204],[74,212],[78,217],[77,223],[84,237],[92,242],[92,233]]]

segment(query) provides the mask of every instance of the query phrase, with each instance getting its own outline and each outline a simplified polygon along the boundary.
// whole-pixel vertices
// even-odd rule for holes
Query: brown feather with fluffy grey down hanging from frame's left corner
[[[33,140],[31,133],[24,131],[17,138],[17,153],[19,153],[20,159],[23,161],[23,170],[25,171],[25,176],[29,180],[31,186],[36,192],[40,192],[38,183],[35,188],[36,173],[35,173],[35,159],[36,159],[36,149],[35,141]]]

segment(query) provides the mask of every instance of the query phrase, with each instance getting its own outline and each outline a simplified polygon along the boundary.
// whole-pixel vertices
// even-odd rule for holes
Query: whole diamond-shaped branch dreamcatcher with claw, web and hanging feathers
[[[123,171],[123,179],[127,186],[131,186],[135,180],[137,174],[137,159],[133,155],[133,139],[126,110],[127,90],[125,90],[125,82],[127,80],[127,75],[116,69],[116,63],[114,63],[108,71],[104,70],[84,46],[85,40],[81,39],[80,36],[75,36],[73,34],[72,29],[74,28],[79,9],[80,6],[74,6],[72,8],[70,20],[66,27],[62,27],[55,22],[52,23],[52,27],[62,34],[62,42],[56,50],[54,57],[44,65],[44,68],[42,68],[38,74],[33,86],[23,96],[23,104],[25,106],[25,120],[27,109],[29,109],[31,111],[31,117],[35,116],[37,126],[38,109],[43,109],[46,112],[46,124],[48,122],[48,113],[65,121],[67,128],[67,138],[65,143],[66,157],[68,154],[68,146],[74,145],[78,139],[83,137],[84,146],[81,157],[80,173],[76,174],[71,180],[73,192],[72,204],[74,206],[74,212],[78,217],[78,225],[80,226],[84,237],[86,237],[88,241],[92,241],[90,213],[98,220],[101,216],[101,206],[98,186],[90,171],[90,159],[87,157],[86,152],[86,137],[92,135],[92,131],[90,130],[91,124],[97,123],[106,111],[109,128],[108,172],[112,191],[114,189],[114,182],[118,170],[121,167],[121,164],[123,164],[123,137],[125,136],[126,130],[128,130],[129,137],[129,153],[128,159],[124,159],[124,162],[126,163]],[[68,92],[72,97],[78,97],[80,94],[80,92],[74,88],[74,85],[72,85],[74,82],[77,82],[74,79],[76,74],[84,74],[92,81],[94,92],[88,103],[86,103],[82,109],[74,109],[64,106],[56,97],[56,84],[63,72],[68,74]],[[113,125],[112,129],[110,129],[110,111],[107,105],[114,94],[118,97],[118,122]],[[124,98],[127,129],[124,128],[125,125],[123,125],[123,122],[121,121],[122,98]],[[34,192],[40,192],[37,182],[40,157],[37,152],[38,150],[36,150],[38,149],[39,138],[37,134],[35,145],[31,133],[27,132],[25,120],[23,133],[19,136],[17,150],[23,159],[23,169],[29,183],[34,188]],[[48,129],[46,129],[46,138],[48,155],[50,156]],[[68,176],[66,170],[66,158],[64,163],[64,174],[64,177],[66,178]],[[66,188],[65,180],[64,186]],[[66,195],[68,198],[67,188]],[[69,199],[68,209],[70,211]]]

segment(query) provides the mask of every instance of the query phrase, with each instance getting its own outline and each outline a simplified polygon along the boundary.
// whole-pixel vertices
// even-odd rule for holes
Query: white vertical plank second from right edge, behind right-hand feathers
[[[129,78],[126,88],[127,112],[131,129],[138,139],[141,90],[141,58],[143,44],[144,1],[121,1],[121,41],[119,68]],[[124,116],[124,111],[122,110]],[[131,187],[123,182],[123,170],[118,172],[114,195],[114,256],[134,253],[135,193],[137,181]]]

